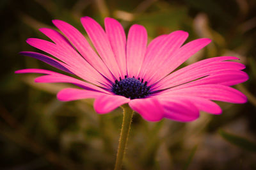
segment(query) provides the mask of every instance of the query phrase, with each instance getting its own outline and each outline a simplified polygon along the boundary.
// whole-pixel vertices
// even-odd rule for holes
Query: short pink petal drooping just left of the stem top
[[[96,98],[93,106],[97,113],[105,114],[113,111],[120,105],[127,104],[131,99],[118,95],[101,95]]]

